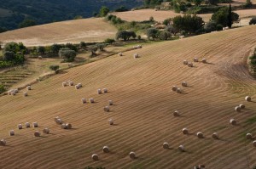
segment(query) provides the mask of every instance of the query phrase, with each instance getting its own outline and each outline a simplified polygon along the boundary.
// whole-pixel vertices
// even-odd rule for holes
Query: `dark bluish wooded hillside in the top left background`
[[[77,15],[88,18],[102,6],[113,10],[120,6],[134,8],[142,4],[142,0],[0,0],[0,27],[16,29],[25,18],[36,20],[38,25],[73,20]]]

